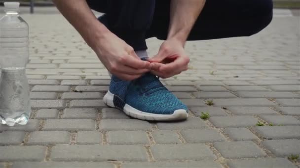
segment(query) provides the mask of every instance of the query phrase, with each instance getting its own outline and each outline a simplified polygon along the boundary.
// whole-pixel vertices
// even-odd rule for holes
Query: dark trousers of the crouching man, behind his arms
[[[147,49],[147,38],[167,38],[170,0],[87,2],[91,9],[106,13],[99,20],[136,51]],[[272,0],[206,0],[188,40],[253,35],[271,22],[272,9]]]

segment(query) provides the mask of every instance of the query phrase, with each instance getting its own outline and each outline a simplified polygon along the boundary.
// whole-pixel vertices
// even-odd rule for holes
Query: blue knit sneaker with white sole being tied
[[[112,76],[110,89],[103,100],[109,107],[138,119],[173,121],[188,118],[188,107],[151,73],[130,82]]]

